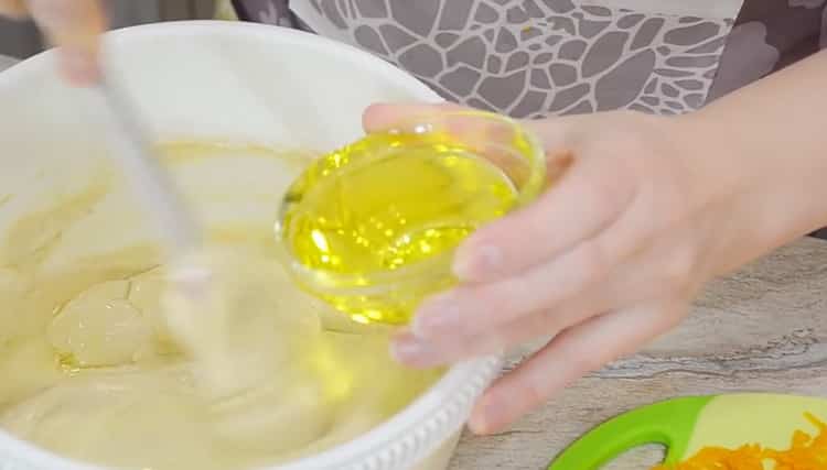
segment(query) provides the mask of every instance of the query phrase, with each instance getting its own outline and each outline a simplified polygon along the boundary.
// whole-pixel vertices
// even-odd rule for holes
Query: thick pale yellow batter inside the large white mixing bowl
[[[222,159],[236,159],[239,172],[296,166],[260,149],[165,150],[195,205],[222,196],[219,183],[198,184]],[[298,292],[266,225],[213,221],[208,251],[163,264],[151,242],[130,240],[142,219],[118,178],[92,181],[0,238],[8,431],[104,466],[244,469],[350,440],[436,379],[395,364],[385,334],[344,324]],[[222,190],[239,207],[249,198],[250,210],[269,204],[275,216],[280,192],[265,182],[246,182],[247,195]],[[193,266],[211,273],[197,295],[178,283]]]

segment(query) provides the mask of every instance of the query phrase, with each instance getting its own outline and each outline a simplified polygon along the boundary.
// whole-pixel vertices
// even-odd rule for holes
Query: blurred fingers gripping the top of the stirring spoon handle
[[[0,14],[31,17],[61,47],[61,72],[73,84],[92,85],[98,79],[98,36],[106,30],[99,0],[0,0]]]

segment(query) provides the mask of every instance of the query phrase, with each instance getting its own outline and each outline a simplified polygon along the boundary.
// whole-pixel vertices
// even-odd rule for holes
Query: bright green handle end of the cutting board
[[[622,453],[647,444],[666,446],[666,463],[687,450],[701,409],[711,397],[684,397],[624,413],[595,427],[557,456],[548,470],[598,470]]]

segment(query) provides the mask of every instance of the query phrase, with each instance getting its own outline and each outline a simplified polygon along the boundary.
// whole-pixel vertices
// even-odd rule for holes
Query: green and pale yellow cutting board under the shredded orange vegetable
[[[647,444],[666,446],[666,463],[684,461],[708,446],[735,449],[761,444],[783,450],[798,429],[817,434],[805,413],[827,423],[827,400],[771,394],[669,400],[595,427],[561,452],[549,470],[597,470]]]

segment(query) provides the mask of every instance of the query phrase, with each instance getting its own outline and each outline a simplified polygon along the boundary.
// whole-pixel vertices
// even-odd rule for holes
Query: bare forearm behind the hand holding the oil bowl
[[[681,119],[712,177],[748,195],[733,263],[827,226],[827,52]]]

